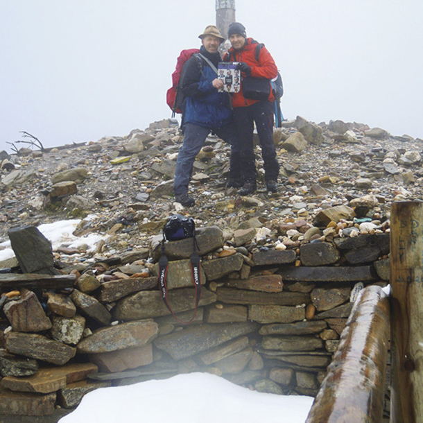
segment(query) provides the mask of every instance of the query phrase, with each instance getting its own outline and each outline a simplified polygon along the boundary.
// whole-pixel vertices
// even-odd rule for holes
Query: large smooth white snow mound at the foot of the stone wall
[[[304,423],[313,397],[265,394],[207,373],[89,392],[58,423]]]

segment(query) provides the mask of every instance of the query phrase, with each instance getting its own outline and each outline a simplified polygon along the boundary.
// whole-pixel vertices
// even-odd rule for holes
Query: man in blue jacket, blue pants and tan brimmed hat
[[[176,201],[184,207],[192,207],[196,203],[188,194],[188,185],[196,155],[211,131],[231,144],[227,187],[243,185],[238,159],[238,135],[233,121],[230,96],[227,92],[219,92],[219,89],[223,89],[223,81],[217,75],[218,62],[221,61],[218,48],[225,38],[214,25],[207,26],[199,38],[202,40],[200,53],[187,60],[180,78],[184,96],[182,106],[184,142],[176,160],[173,192]]]

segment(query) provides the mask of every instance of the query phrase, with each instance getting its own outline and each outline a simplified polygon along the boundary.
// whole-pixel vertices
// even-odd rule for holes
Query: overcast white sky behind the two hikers
[[[125,136],[171,116],[176,58],[214,0],[0,0],[0,150]],[[236,0],[284,79],[282,111],[423,139],[423,1]]]

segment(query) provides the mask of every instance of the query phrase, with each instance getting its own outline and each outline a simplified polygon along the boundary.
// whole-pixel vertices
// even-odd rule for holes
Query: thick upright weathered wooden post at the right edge
[[[390,422],[423,421],[423,202],[394,202],[390,219]]]

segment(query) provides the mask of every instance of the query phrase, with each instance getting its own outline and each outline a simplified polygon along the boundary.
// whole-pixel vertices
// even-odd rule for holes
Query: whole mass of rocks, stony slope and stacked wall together
[[[241,198],[225,189],[229,148],[209,137],[194,210],[173,202],[172,121],[78,148],[2,153],[3,241],[20,232],[11,227],[63,217],[83,218],[76,233],[104,241],[95,251],[62,245],[40,269],[19,252],[0,263],[1,413],[48,415],[99,386],[191,371],[316,395],[356,292],[388,281],[389,205],[421,194],[420,141],[299,117],[275,131],[284,187]],[[161,229],[174,212],[195,218],[202,257],[188,327],[157,288]],[[166,243],[182,320],[193,316],[192,248]]]

